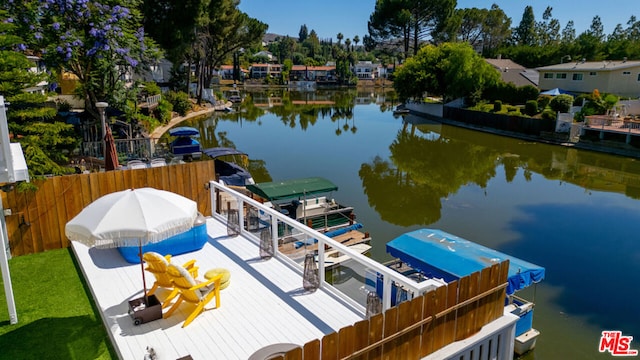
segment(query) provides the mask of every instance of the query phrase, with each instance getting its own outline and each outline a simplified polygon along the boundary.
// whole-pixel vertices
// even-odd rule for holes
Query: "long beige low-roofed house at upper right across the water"
[[[537,68],[541,90],[560,88],[575,93],[610,93],[640,96],[640,61],[584,60]]]

